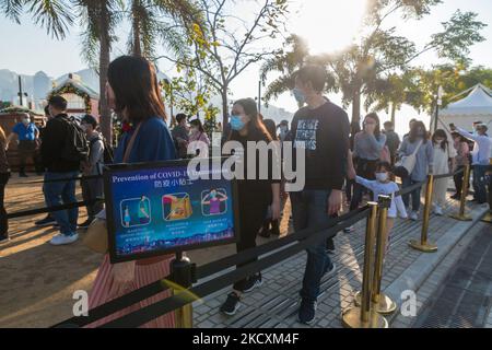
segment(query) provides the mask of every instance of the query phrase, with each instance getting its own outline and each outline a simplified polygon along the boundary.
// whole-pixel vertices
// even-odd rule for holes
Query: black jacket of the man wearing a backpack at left
[[[62,159],[61,154],[67,147],[67,135],[70,125],[66,121],[68,115],[60,114],[46,124],[42,136],[40,154],[43,164],[48,172],[68,173],[80,170],[80,162]]]

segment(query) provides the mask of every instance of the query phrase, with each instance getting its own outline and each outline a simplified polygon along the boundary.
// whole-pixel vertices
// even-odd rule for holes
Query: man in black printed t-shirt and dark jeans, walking
[[[304,149],[306,159],[305,187],[290,194],[296,232],[329,224],[342,205],[350,122],[343,109],[323,96],[326,81],[326,70],[319,66],[306,66],[295,78],[294,96],[300,105],[307,104],[295,114],[291,130],[293,147]],[[301,323],[314,322],[321,278],[335,270],[325,240],[307,248],[298,311]]]

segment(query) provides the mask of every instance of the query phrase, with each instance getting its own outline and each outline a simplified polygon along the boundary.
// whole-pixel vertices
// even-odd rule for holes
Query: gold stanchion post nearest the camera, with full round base
[[[371,302],[372,276],[371,266],[373,262],[374,236],[377,222],[376,202],[368,202],[371,214],[367,219],[365,231],[364,268],[362,277],[362,301],[361,306],[354,306],[343,312],[342,325],[345,328],[388,328],[385,317],[374,312]]]

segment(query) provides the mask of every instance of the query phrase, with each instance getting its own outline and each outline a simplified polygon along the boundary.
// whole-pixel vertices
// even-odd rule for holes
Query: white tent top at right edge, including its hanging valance
[[[444,124],[447,128],[453,122],[457,127],[471,130],[473,121],[482,121],[492,129],[492,91],[482,84],[470,90],[471,93],[467,97],[449,104],[440,112],[440,124]]]

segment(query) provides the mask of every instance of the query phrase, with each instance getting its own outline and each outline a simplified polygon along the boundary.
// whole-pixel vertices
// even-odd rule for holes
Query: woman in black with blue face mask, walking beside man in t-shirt
[[[244,172],[247,174],[248,142],[272,142],[272,137],[267,131],[258,115],[255,100],[245,98],[234,103],[231,114],[230,141],[239,142],[243,147]],[[237,180],[239,196],[239,232],[241,237],[236,244],[237,253],[256,247],[256,236],[267,215],[268,206],[271,205],[272,220],[280,219],[280,179],[273,179],[274,162],[279,154],[273,151],[268,159],[260,159],[259,152],[256,154],[256,176],[255,179],[246,178]],[[267,163],[263,163],[267,162]],[[260,179],[259,171],[268,166],[269,178]],[[237,267],[250,264],[245,261]],[[257,273],[234,283],[233,291],[227,295],[227,300],[221,306],[221,312],[226,315],[234,315],[238,307],[243,293],[253,291],[261,285],[261,273]]]

